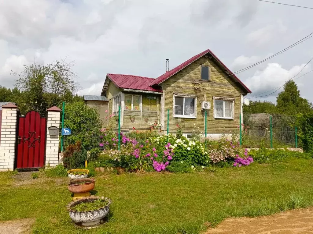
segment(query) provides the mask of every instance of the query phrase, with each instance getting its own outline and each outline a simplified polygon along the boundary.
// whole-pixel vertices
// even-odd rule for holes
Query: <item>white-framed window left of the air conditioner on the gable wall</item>
[[[196,98],[174,95],[174,117],[196,118]]]

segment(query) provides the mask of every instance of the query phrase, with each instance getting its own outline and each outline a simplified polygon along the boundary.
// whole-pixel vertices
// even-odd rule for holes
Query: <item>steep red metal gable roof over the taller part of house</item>
[[[181,71],[183,68],[185,68],[189,64],[193,63],[197,59],[201,58],[202,56],[206,55],[207,53],[210,53],[220,63],[220,65],[225,70],[227,70],[230,74],[232,74],[231,77],[233,77],[233,79],[238,81],[242,85],[244,90],[246,90],[248,93],[251,93],[251,90],[249,90],[249,88],[246,85],[244,85],[244,83],[242,83],[242,81],[239,80],[239,78],[235,74],[233,74],[233,72],[230,71],[228,69],[228,67],[225,64],[223,64],[223,62],[220,61],[218,59],[218,57],[215,54],[213,54],[213,52],[211,50],[209,50],[209,49],[201,52],[200,54],[197,54],[197,55],[193,56],[192,58],[190,58],[187,61],[183,62],[181,65],[178,65],[177,67],[173,68],[172,70],[170,70],[170,71],[164,73],[163,75],[159,76],[158,78],[154,79],[149,85],[152,86],[152,85],[159,85],[159,84],[161,84],[164,80],[167,80],[171,76],[175,75],[178,71]]]

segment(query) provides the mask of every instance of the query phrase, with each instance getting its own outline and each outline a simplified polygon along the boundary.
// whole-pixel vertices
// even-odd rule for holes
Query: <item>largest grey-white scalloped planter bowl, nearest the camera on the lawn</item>
[[[108,204],[104,207],[99,209],[90,210],[90,211],[75,211],[72,210],[71,207],[74,205],[80,204],[82,202],[93,202],[96,199],[104,199],[108,201]],[[82,223],[83,226],[91,226],[99,224],[100,221],[107,216],[110,210],[110,204],[112,203],[110,198],[107,197],[98,197],[98,196],[91,196],[91,197],[84,197],[79,200],[69,202],[66,206],[67,210],[69,211],[69,217],[76,223]]]

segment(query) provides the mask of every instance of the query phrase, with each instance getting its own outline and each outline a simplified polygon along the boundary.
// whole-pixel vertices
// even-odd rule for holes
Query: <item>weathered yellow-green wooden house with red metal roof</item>
[[[195,131],[213,137],[231,134],[240,114],[243,119],[243,96],[251,93],[249,88],[210,50],[172,70],[168,64],[157,78],[107,74],[101,92],[108,100],[105,124],[117,127],[121,106],[123,131],[156,123],[165,134],[175,133],[178,125],[187,137]]]

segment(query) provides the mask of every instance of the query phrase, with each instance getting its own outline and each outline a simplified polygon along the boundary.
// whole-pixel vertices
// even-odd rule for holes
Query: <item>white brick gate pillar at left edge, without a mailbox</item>
[[[13,171],[18,107],[13,103],[1,107],[0,171]]]

